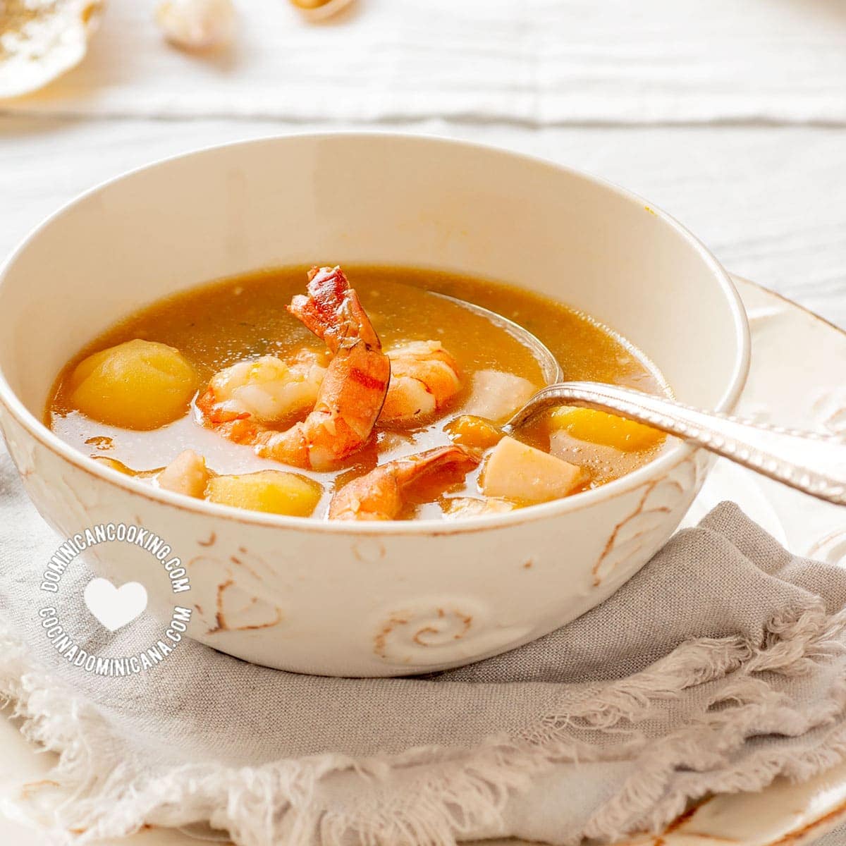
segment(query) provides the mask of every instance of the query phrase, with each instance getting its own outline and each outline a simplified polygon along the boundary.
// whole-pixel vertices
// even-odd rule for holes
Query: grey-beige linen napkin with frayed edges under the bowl
[[[656,831],[691,799],[846,752],[846,571],[795,558],[730,503],[569,626],[429,678],[282,673],[193,642],[92,678],[38,628],[56,543],[3,456],[0,693],[61,755],[55,788],[4,810],[60,840],[211,821],[248,846],[574,843]],[[90,579],[77,561],[65,595]],[[157,631],[108,634],[81,602],[63,617],[113,654]]]

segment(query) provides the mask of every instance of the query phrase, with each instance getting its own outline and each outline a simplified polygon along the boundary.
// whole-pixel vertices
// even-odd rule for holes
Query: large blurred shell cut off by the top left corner
[[[0,0],[0,97],[37,91],[74,68],[102,0]]]

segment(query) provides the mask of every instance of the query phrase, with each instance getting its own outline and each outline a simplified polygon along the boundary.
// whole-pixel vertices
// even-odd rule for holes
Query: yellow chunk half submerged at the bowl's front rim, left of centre
[[[212,503],[309,517],[320,502],[321,486],[298,473],[260,470],[244,475],[219,475],[209,480],[206,499]]]

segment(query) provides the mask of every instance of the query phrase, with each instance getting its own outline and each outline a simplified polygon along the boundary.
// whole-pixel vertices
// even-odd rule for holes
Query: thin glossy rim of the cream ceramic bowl
[[[533,167],[547,168],[550,171],[558,171],[568,173],[570,177],[579,179],[598,186],[604,190],[609,190],[613,194],[618,195],[624,201],[634,203],[638,206],[650,211],[658,217],[663,223],[672,228],[682,239],[690,244],[694,250],[700,255],[700,259],[705,262],[706,266],[711,270],[711,273],[716,277],[717,284],[722,290],[722,294],[728,300],[729,309],[731,310],[733,320],[733,330],[736,340],[738,341],[739,355],[734,362],[733,372],[728,384],[722,392],[722,396],[717,401],[714,407],[715,411],[730,412],[737,404],[740,394],[743,391],[746,378],[749,374],[750,368],[750,326],[746,316],[746,311],[740,295],[735,288],[734,283],[728,272],[717,261],[717,258],[711,254],[705,244],[702,244],[700,239],[684,227],[678,220],[666,211],[654,206],[651,202],[646,201],[645,198],[635,194],[632,191],[622,188],[607,179],[595,176],[591,173],[570,168],[566,165],[553,162],[550,159],[532,156],[527,153],[511,151],[507,148],[480,144],[475,141],[468,141],[462,139],[448,138],[442,135],[415,133],[415,132],[395,132],[382,130],[332,130],[328,132],[301,132],[301,133],[286,133],[284,135],[262,135],[256,138],[242,139],[235,141],[228,141],[223,144],[213,144],[205,147],[199,147],[194,150],[178,153],[174,156],[163,157],[154,162],[148,162],[138,168],[130,168],[123,173],[118,173],[116,176],[105,179],[102,182],[95,184],[90,189],[83,191],[79,195],[74,196],[71,200],[63,203],[62,206],[52,214],[48,215],[44,220],[31,229],[29,233],[19,242],[19,244],[11,251],[2,264],[0,264],[0,285],[6,277],[9,269],[14,266],[18,260],[19,255],[35,241],[41,232],[56,222],[60,217],[69,213],[74,206],[84,201],[91,195],[96,195],[98,192],[106,189],[113,183],[117,183],[123,179],[127,179],[136,174],[144,173],[154,168],[159,168],[173,162],[179,162],[182,159],[201,155],[212,155],[217,151],[224,149],[243,147],[244,149],[250,146],[257,146],[263,144],[284,144],[287,141],[305,141],[305,142],[320,142],[325,140],[343,140],[346,138],[353,139],[376,139],[389,140],[400,144],[433,144],[442,146],[453,146],[464,148],[468,151],[481,151],[488,156],[501,156],[510,159],[519,159],[526,164]],[[477,532],[483,530],[493,530],[500,528],[509,528],[524,523],[535,522],[537,520],[554,519],[563,514],[579,511],[582,508],[590,508],[596,503],[601,503],[610,499],[617,498],[634,489],[642,486],[645,482],[650,481],[656,476],[666,475],[667,472],[673,469],[685,459],[687,459],[697,448],[684,442],[673,444],[670,448],[660,453],[655,459],[652,459],[647,464],[634,470],[633,472],[621,476],[619,479],[608,482],[591,491],[581,492],[574,497],[564,497],[563,499],[552,500],[549,503],[538,503],[536,505],[528,506],[526,508],[519,508],[512,512],[505,514],[490,514],[477,515],[471,517],[464,517],[451,520],[437,520],[437,519],[420,519],[420,520],[388,520],[385,522],[374,523],[371,521],[362,521],[360,523],[354,521],[337,521],[313,519],[311,517],[290,517],[283,514],[266,514],[258,511],[246,511],[242,508],[233,508],[231,506],[220,505],[217,503],[209,503],[206,500],[198,500],[192,497],[185,497],[182,494],[164,491],[161,488],[151,487],[145,483],[136,480],[132,476],[119,473],[117,470],[112,470],[106,467],[101,462],[89,458],[85,453],[71,447],[58,437],[51,429],[38,420],[29,409],[25,407],[23,402],[14,393],[12,387],[8,384],[6,376],[3,373],[2,366],[0,366],[0,403],[7,409],[10,415],[31,437],[34,437],[42,446],[49,449],[58,457],[73,464],[80,470],[93,475],[96,478],[107,482],[108,484],[123,488],[130,494],[136,496],[146,497],[149,500],[159,504],[170,506],[171,508],[179,508],[182,510],[192,511],[198,514],[217,519],[228,519],[236,523],[258,525],[272,529],[287,529],[287,530],[307,530],[319,534],[347,534],[356,536],[395,536],[395,535],[411,535],[411,536],[442,536],[464,534],[469,532]]]

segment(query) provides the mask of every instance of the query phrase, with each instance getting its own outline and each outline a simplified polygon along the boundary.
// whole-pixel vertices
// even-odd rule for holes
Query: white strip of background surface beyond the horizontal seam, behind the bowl
[[[360,0],[325,25],[235,0],[235,47],[164,52],[120,2],[85,66],[21,110],[541,124],[846,119],[842,0]]]

